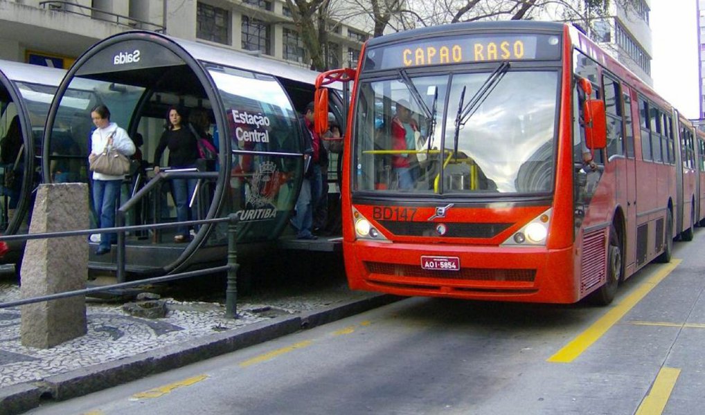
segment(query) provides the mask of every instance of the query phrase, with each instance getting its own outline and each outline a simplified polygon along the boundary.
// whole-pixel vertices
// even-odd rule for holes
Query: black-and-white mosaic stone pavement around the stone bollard
[[[76,368],[117,361],[160,347],[176,345],[287,314],[364,297],[338,285],[301,295],[238,299],[238,318],[225,317],[224,304],[167,302],[165,318],[130,316],[122,303],[87,301],[87,334],[50,349],[20,342],[20,307],[0,309],[0,388],[41,380]],[[0,303],[20,298],[15,283],[0,280]]]

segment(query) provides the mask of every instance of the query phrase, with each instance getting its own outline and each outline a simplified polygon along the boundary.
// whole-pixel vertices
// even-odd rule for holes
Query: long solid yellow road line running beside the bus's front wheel
[[[635,306],[639,301],[642,300],[651,290],[661,283],[661,281],[670,274],[671,271],[681,263],[681,259],[673,259],[669,264],[664,264],[661,271],[658,271],[656,275],[652,276],[648,280],[644,281],[642,285],[639,285],[637,289],[623,299],[620,304],[613,306],[610,311],[599,318],[598,321],[593,323],[592,326],[587,328],[584,332],[580,333],[575,339],[573,339],[568,345],[565,345],[563,349],[558,350],[556,354],[549,357],[547,361],[552,361],[555,363],[570,363],[575,360],[582,352],[584,352],[588,347],[590,347],[594,342],[597,341],[603,334],[607,332],[615,323],[617,323],[620,318],[627,314],[633,306]]]

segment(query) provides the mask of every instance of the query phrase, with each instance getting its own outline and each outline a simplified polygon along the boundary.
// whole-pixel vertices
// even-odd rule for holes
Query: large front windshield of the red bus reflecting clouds
[[[556,70],[508,65],[360,82],[353,189],[551,192],[557,99]]]

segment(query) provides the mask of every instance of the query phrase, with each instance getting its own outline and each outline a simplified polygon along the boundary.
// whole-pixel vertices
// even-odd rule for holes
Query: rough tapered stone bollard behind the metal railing
[[[30,233],[90,227],[88,185],[39,185]],[[27,241],[20,275],[23,298],[85,288],[88,276],[86,236]],[[20,336],[25,347],[47,349],[87,332],[85,296],[22,306]]]

